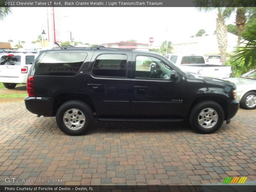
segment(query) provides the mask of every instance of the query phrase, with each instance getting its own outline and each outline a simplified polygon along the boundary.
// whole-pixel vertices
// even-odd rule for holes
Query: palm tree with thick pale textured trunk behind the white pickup
[[[227,26],[225,24],[225,20],[228,19],[233,11],[233,8],[230,7],[198,7],[199,11],[212,11],[217,10],[217,18],[216,18],[216,35],[218,41],[218,47],[220,50],[220,54],[222,57],[222,63],[225,64],[227,62],[226,50],[228,46],[228,37],[227,37]]]

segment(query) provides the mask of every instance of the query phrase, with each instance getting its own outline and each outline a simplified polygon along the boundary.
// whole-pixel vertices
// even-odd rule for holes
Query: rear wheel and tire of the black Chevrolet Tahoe
[[[58,109],[56,122],[60,130],[68,135],[85,134],[93,122],[92,109],[79,100],[67,101]]]

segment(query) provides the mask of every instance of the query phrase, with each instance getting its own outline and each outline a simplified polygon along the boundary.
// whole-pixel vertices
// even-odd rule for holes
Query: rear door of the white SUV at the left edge
[[[2,77],[18,78],[21,71],[21,56],[19,54],[4,54],[0,59]]]

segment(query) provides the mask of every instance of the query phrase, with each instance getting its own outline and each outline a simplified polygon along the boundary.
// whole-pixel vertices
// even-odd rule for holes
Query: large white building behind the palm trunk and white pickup
[[[237,45],[237,36],[228,33],[228,46],[227,53],[231,53],[235,50]],[[179,39],[172,42],[173,50],[175,53],[193,53],[201,55],[220,54],[220,50],[217,42],[217,35],[208,35],[201,37],[191,37]]]

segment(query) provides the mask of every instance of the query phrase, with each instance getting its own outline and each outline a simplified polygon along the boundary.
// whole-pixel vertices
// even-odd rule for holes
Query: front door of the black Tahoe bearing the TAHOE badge
[[[187,98],[186,79],[172,81],[172,67],[150,55],[133,55],[131,116],[179,118]]]

